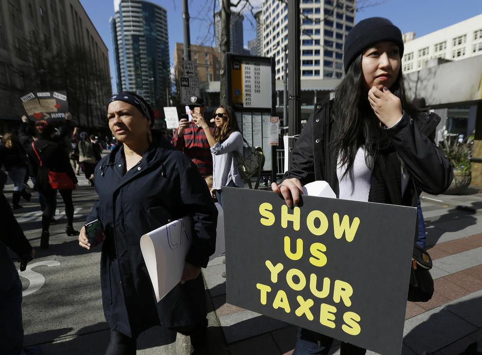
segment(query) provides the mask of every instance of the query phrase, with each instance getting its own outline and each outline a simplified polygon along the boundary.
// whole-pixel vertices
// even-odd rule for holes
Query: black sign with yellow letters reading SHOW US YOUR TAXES
[[[416,208],[223,188],[227,302],[400,354]],[[242,201],[242,202],[241,202]]]

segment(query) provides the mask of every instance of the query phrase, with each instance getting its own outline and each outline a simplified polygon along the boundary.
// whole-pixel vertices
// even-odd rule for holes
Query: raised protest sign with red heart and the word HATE
[[[20,100],[33,121],[65,118],[65,113],[69,111],[66,91],[32,91]]]

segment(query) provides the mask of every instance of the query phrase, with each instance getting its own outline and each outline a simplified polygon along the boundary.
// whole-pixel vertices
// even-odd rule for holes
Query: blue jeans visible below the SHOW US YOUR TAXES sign
[[[332,337],[305,328],[298,328],[293,355],[327,355],[331,343],[333,343]],[[340,347],[341,355],[363,355],[365,353],[365,349],[348,343],[342,342]]]

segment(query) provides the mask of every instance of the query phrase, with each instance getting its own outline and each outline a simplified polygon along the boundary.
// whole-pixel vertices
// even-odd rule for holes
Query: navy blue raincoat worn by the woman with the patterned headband
[[[177,284],[160,302],[140,250],[140,237],[185,215],[193,218],[186,261],[206,267],[216,245],[217,209],[196,165],[170,142],[154,140],[139,163],[124,174],[123,145],[95,169],[99,200],[87,222],[102,221],[102,302],[112,330],[137,337],[154,326],[185,327],[206,319],[201,274]]]

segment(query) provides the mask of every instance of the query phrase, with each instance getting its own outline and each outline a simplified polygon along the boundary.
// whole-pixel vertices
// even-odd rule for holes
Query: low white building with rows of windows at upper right
[[[419,38],[409,34],[413,32],[404,35],[404,73],[426,68],[431,59],[460,60],[482,54],[482,14]]]

